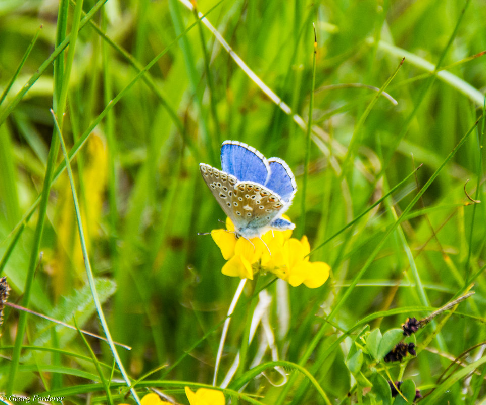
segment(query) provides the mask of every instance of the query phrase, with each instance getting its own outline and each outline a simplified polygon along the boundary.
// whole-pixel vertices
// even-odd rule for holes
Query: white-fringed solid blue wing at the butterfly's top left
[[[221,145],[221,168],[240,182],[264,185],[270,171],[267,159],[255,148],[238,142],[224,141]]]

